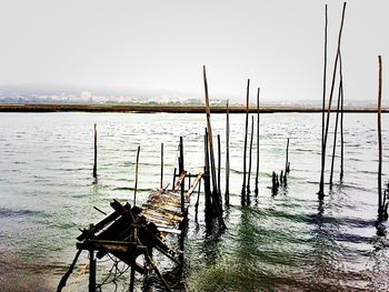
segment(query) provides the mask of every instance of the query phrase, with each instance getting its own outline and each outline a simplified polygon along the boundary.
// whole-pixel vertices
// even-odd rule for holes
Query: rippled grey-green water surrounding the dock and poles
[[[388,118],[383,115],[383,179],[389,178]],[[156,258],[173,289],[388,291],[389,242],[387,236],[377,235],[375,226],[376,114],[345,115],[345,180],[339,183],[337,161],[335,185],[332,191],[326,187],[322,204],[316,194],[320,114],[261,115],[259,195],[249,207],[240,205],[245,115],[232,114],[230,119],[231,205],[225,212],[228,229],[221,234],[207,234],[203,204],[197,223],[190,211],[184,268],[177,271],[169,260]],[[98,124],[97,183],[92,179],[93,123]],[[223,155],[225,124],[223,114],[212,115],[213,133],[221,135]],[[111,212],[112,199],[131,202],[138,145],[141,202],[159,187],[161,142],[164,184],[172,181],[180,135],[186,169],[193,173],[202,170],[205,125],[205,114],[1,113],[0,290],[54,291],[76,253],[79,229],[103,218],[93,207]],[[269,189],[271,172],[285,167],[287,138],[291,172],[288,187],[273,197]],[[256,159],[252,164],[251,185]],[[223,185],[225,157],[221,165]],[[102,260],[106,262],[98,263],[98,282],[110,269],[110,261]],[[82,254],[64,291],[87,291],[87,263],[88,254]],[[139,290],[161,290],[153,278],[146,283],[137,279]],[[113,288],[103,286],[102,291]],[[118,291],[126,289],[126,279],[118,281]]]

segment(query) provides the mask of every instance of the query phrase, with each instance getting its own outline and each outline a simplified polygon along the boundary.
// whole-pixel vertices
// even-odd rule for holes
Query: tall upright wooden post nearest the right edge
[[[379,75],[378,75],[378,220],[383,219],[382,205],[382,137],[381,137],[381,100],[382,100],[382,61],[381,56],[378,56]]]

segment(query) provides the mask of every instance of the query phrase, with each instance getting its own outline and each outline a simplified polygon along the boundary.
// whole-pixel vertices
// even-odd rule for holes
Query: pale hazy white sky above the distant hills
[[[172,90],[267,100],[320,100],[325,4],[329,70],[342,1],[0,0],[0,84]],[[377,56],[389,68],[389,1],[348,2],[348,99],[377,99]],[[388,64],[388,66],[386,66]],[[389,79],[385,79],[389,89]],[[389,90],[388,90],[389,91]]]

